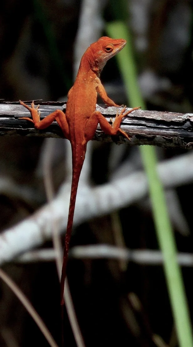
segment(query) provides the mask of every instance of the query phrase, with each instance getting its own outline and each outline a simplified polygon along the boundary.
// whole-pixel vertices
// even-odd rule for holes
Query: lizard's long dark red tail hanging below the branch
[[[67,260],[68,260],[69,242],[70,242],[70,237],[72,234],[76,194],[77,194],[77,188],[78,188],[78,181],[79,181],[79,177],[80,177],[83,162],[84,162],[83,157],[81,159],[82,159],[81,160],[82,163],[78,163],[78,166],[76,164],[73,165],[72,186],[71,186],[71,193],[70,193],[68,222],[67,222],[66,235],[65,235],[64,256],[63,256],[61,282],[60,282],[60,303],[62,306],[64,305],[64,283],[65,283],[65,277],[66,277],[66,266],[67,266]]]

